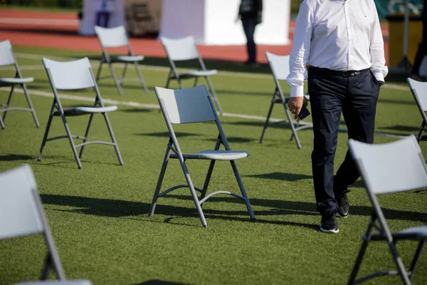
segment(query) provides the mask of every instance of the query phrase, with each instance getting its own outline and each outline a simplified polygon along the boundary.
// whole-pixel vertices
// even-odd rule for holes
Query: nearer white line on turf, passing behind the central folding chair
[[[7,87],[2,87],[0,90],[6,90],[9,91],[10,89]],[[23,93],[23,89],[21,88],[15,88],[15,92]],[[49,97],[53,98],[53,93],[45,92],[45,91],[37,91],[37,90],[28,90],[28,93],[31,95],[38,95],[43,97]],[[67,94],[58,94],[59,98],[62,99],[68,99],[68,100],[78,100],[78,101],[85,101],[85,102],[91,102],[93,103],[94,98],[90,97],[83,97],[83,96],[77,96],[77,95],[67,95]],[[102,101],[107,104],[112,105],[125,105],[125,106],[132,106],[132,107],[140,107],[140,108],[150,108],[150,109],[159,109],[159,105],[157,104],[147,104],[147,103],[138,103],[138,102],[132,102],[132,101],[118,101],[118,100],[112,100],[112,99],[105,99],[103,98]],[[265,122],[265,117],[258,116],[258,115],[245,115],[245,114],[234,114],[234,113],[223,113],[223,117],[231,117],[231,118],[243,118],[248,120],[260,120]],[[270,118],[270,122],[280,122],[283,121],[283,119],[278,118]],[[312,123],[305,123],[300,122],[300,125],[312,125]],[[339,130],[341,131],[347,131],[347,128],[340,127]],[[395,135],[391,133],[381,133],[381,132],[375,132],[375,135],[384,135],[386,137],[391,138],[404,138],[405,135]]]

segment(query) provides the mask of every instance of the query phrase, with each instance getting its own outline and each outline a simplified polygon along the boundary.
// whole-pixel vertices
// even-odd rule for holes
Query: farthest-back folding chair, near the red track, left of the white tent
[[[110,78],[110,76],[105,76],[100,78],[102,64],[107,63],[108,68],[110,68],[111,76],[114,79],[115,86],[119,91],[119,94],[123,94],[122,86],[125,81],[133,81],[139,82],[144,88],[145,93],[148,93],[147,84],[144,81],[144,76],[142,76],[141,70],[139,69],[139,61],[144,59],[144,56],[135,56],[132,47],[130,46],[129,39],[127,38],[127,33],[124,26],[117,26],[115,28],[102,28],[100,26],[95,26],[95,33],[97,35],[98,40],[100,41],[100,45],[102,48],[102,55],[100,60],[100,67],[98,68],[96,74],[96,81],[99,81],[103,78]],[[120,48],[122,46],[126,46],[128,53],[127,56],[114,56],[110,57],[107,53],[107,48]],[[112,67],[112,63],[125,63],[125,67],[123,68],[122,77],[117,77],[114,68]],[[133,63],[135,66],[135,70],[137,71],[138,78],[125,78],[127,65],[129,63]]]

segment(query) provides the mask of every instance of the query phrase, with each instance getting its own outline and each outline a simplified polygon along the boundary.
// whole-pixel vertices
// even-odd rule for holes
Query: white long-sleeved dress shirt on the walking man
[[[291,97],[304,95],[306,63],[334,71],[370,68],[384,81],[389,70],[374,0],[304,0],[290,53]]]

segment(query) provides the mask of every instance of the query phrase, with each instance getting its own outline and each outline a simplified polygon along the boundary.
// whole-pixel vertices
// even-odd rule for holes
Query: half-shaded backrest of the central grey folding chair
[[[216,110],[206,86],[176,90],[156,86],[154,90],[165,118],[172,124],[216,120]]]

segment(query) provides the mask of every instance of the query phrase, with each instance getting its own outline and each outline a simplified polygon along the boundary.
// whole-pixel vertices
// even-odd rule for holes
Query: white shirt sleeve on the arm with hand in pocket
[[[371,28],[371,42],[369,46],[372,62],[371,71],[377,81],[384,81],[387,73],[389,73],[389,68],[386,66],[386,58],[384,56],[384,40],[374,1],[371,1],[371,6],[371,11],[374,12],[374,23],[372,24]]]

